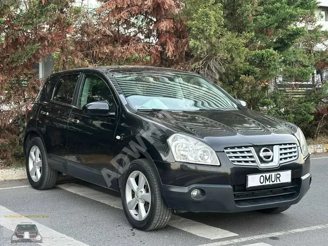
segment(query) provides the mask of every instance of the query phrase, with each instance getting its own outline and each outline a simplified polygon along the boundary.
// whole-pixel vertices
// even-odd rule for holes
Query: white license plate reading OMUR
[[[291,181],[291,170],[273,173],[250,174],[247,175],[247,188],[261,185],[290,183]]]

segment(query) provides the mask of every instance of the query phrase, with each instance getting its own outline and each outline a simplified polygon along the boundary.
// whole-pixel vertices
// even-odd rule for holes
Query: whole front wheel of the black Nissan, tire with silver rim
[[[136,190],[136,192],[134,192],[133,189],[131,188],[132,186],[128,184],[128,178],[131,179],[133,178],[133,176],[138,175],[136,176],[135,180],[138,181],[138,185],[139,185],[140,184],[139,178],[140,176],[142,176],[140,173],[144,175],[146,179],[146,181],[144,182],[145,185],[142,186],[140,190],[138,186],[138,189]],[[168,209],[164,204],[159,188],[160,187],[159,178],[157,178],[153,166],[146,159],[138,159],[132,161],[126,172],[122,175],[120,182],[121,182],[121,198],[122,198],[123,210],[129,223],[134,228],[143,231],[151,231],[151,230],[161,229],[168,224],[172,215],[172,210]],[[142,189],[143,187],[145,188]],[[142,200],[143,196],[142,193],[140,194],[140,192],[144,192],[144,195],[146,195],[147,192],[150,192],[150,194],[148,194],[150,197],[150,203],[147,203],[146,200]],[[135,210],[131,210],[137,213],[130,212],[128,208],[127,199],[128,200],[137,199],[136,197],[138,193],[140,194],[138,198],[140,199],[138,200],[140,203],[136,202],[137,205],[135,207]],[[142,218],[142,215],[140,216],[140,212],[139,212],[140,211],[139,206],[143,206],[142,202],[144,202],[144,208],[148,208],[145,218]]]

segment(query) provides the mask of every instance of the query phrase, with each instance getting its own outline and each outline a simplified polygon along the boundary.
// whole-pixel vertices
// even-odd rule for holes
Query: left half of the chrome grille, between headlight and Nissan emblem
[[[250,147],[228,147],[225,148],[225,153],[232,164],[253,166],[257,165]]]

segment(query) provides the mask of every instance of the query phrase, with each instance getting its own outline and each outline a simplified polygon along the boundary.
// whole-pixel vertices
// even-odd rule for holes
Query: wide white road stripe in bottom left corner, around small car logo
[[[40,223],[37,223],[28,218],[5,218],[5,216],[18,216],[19,214],[0,206],[0,225],[8,228],[9,230],[14,231],[17,224],[19,223],[32,223],[35,224],[36,227],[41,230],[40,234],[42,235],[42,243],[39,243],[43,246],[65,246],[65,245],[74,245],[74,246],[89,246],[81,241],[75,240],[72,237],[69,237],[65,234],[62,234],[58,231],[55,231],[49,227],[46,227]],[[10,240],[10,238],[8,238]]]

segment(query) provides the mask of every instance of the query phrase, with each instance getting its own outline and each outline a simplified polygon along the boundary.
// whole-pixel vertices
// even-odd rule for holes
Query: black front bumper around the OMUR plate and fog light
[[[236,168],[239,171],[237,171]],[[211,167],[210,169],[213,168]],[[246,175],[250,173],[260,173],[263,172],[263,170],[256,170],[254,167],[231,166],[230,172],[222,173],[213,172],[213,170],[211,170],[212,175],[206,178],[202,176],[201,171],[198,171],[196,175],[199,178],[199,183],[186,186],[172,185],[172,183],[163,184],[163,194],[168,207],[177,211],[234,213],[294,205],[303,198],[310,188],[310,158],[307,158],[303,164],[289,163],[281,165],[278,169],[265,170],[265,172],[276,172],[288,169],[292,170],[291,184],[272,185],[254,190],[246,190]],[[223,170],[227,170],[227,167],[223,168]],[[159,173],[162,174],[161,171],[163,170],[159,171]],[[173,170],[171,169],[171,171]],[[180,171],[182,170],[180,169]],[[213,180],[213,176],[217,177],[216,183],[218,184],[204,183],[204,180]],[[190,177],[193,176],[190,175]],[[220,177],[222,177],[221,182]],[[192,179],[194,180],[194,178]],[[184,180],[186,181],[186,177]],[[227,184],[228,180],[229,184]],[[196,201],[191,198],[190,192],[194,188],[201,188],[205,191],[206,195],[202,200]]]

